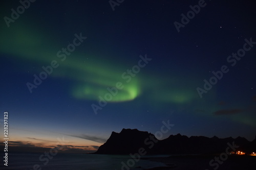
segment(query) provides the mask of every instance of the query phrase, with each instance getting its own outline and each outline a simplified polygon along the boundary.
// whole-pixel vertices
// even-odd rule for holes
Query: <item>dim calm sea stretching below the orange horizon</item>
[[[2,155],[2,154],[1,154]],[[167,157],[169,155],[146,155],[146,157]],[[130,155],[63,154],[47,156],[44,153],[9,153],[8,166],[2,159],[0,169],[23,170],[132,170],[166,166],[160,162],[134,159]]]

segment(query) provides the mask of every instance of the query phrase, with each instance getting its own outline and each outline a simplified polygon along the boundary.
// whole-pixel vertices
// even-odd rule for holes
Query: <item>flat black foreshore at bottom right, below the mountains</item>
[[[157,170],[157,169],[174,169],[174,170],[194,170],[194,169],[253,169],[256,167],[256,156],[248,155],[229,155],[226,160],[222,161],[218,159],[220,155],[181,155],[170,156],[163,158],[145,158],[150,161],[162,162],[166,166],[148,168],[145,170]],[[212,161],[213,160],[213,161]],[[211,165],[210,162],[211,161]]]

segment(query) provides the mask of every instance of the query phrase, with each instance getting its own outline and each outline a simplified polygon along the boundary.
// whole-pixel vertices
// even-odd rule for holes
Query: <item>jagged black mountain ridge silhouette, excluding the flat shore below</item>
[[[137,129],[112,132],[110,138],[94,154],[220,154],[227,147],[243,152],[255,152],[256,138],[248,141],[243,137],[218,138],[177,134],[158,140],[154,134]],[[229,152],[232,150],[229,149]]]

